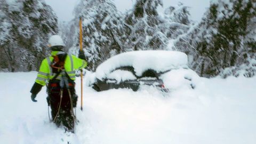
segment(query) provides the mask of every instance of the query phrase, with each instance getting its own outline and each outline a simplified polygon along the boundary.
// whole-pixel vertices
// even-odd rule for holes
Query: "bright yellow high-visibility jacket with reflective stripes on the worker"
[[[51,55],[57,55],[60,53],[63,53],[63,52],[52,51]],[[52,68],[51,68],[51,63],[53,59],[54,58],[50,56],[45,58],[42,61],[36,77],[36,83],[44,86],[47,81],[49,81],[55,76],[55,74],[52,73]],[[70,79],[75,80],[76,79],[75,70],[85,68],[86,66],[87,66],[87,62],[85,60],[79,59],[74,55],[68,54],[65,59],[64,68],[68,76],[70,77]],[[60,77],[61,77],[61,74],[56,79],[60,79]]]

